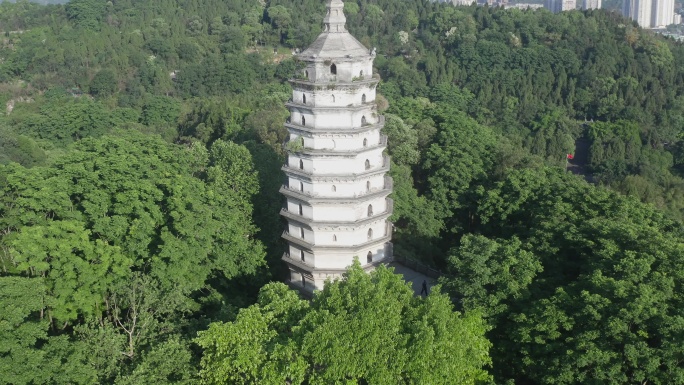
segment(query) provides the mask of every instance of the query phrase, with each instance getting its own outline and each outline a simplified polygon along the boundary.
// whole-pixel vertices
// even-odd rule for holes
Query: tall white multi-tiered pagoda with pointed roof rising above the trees
[[[370,51],[345,27],[342,0],[328,0],[324,30],[298,55],[291,80],[287,220],[283,260],[290,283],[306,291],[341,277],[358,258],[366,270],[392,256],[392,179],[384,118],[377,113]]]

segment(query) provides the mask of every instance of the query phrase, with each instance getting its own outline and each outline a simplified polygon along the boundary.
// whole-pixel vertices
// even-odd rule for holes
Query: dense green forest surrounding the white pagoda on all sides
[[[345,1],[395,254],[442,276],[354,264],[306,300],[278,190],[324,13],[0,3],[0,384],[684,383],[684,46],[607,10]]]

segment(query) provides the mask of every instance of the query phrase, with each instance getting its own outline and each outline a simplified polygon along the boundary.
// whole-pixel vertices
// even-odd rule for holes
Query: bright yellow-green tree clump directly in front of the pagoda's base
[[[357,262],[309,304],[281,283],[235,322],[201,332],[207,384],[338,382],[469,384],[488,378],[484,324],[453,312],[436,288],[416,297],[403,279]]]

